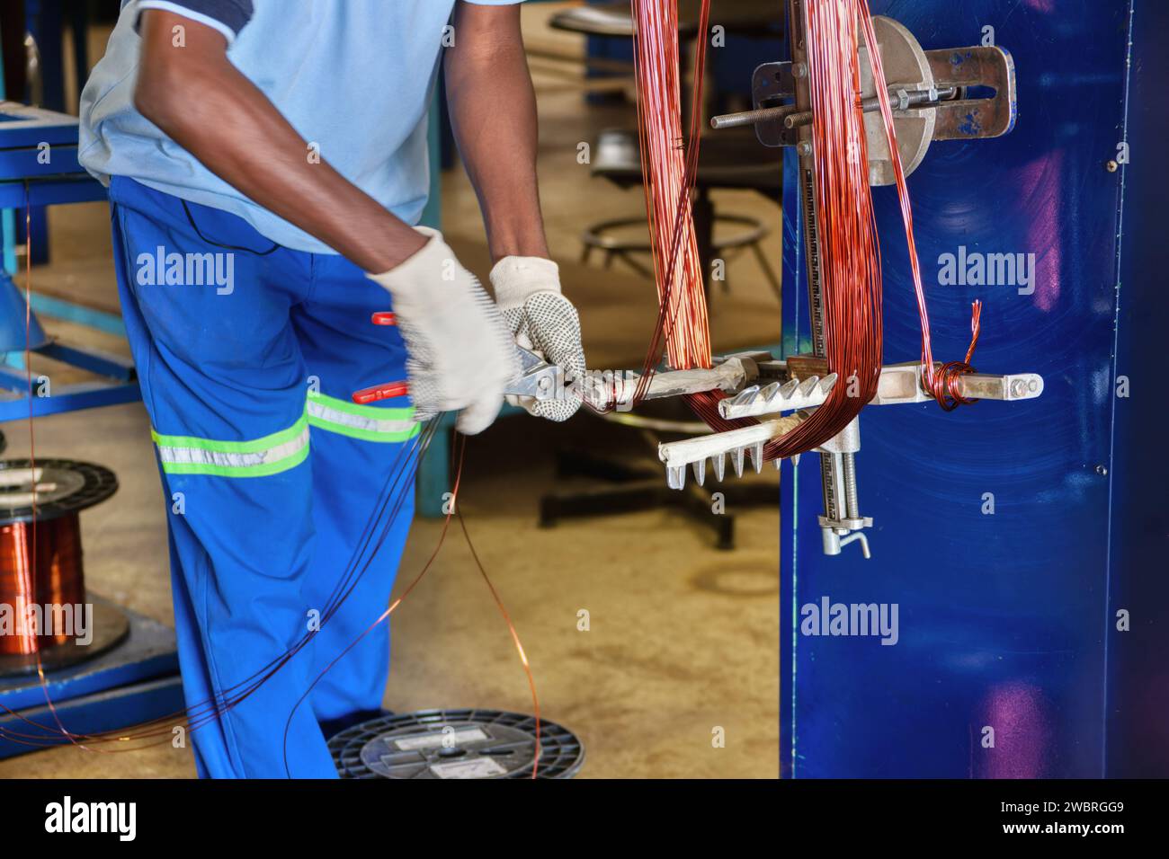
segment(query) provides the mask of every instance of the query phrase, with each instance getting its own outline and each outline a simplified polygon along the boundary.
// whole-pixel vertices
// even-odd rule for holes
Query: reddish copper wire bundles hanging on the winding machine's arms
[[[697,115],[706,54],[699,37],[694,61],[694,116],[686,158],[678,122],[678,34],[675,4],[632,0],[637,23],[638,117],[646,208],[651,226],[655,271],[660,299],[657,337],[673,367],[710,367],[710,331],[703,289],[703,271],[692,252],[693,223],[690,193],[697,176],[699,138]],[[869,186],[869,150],[860,104],[860,58],[857,22],[869,47],[876,91],[905,220],[906,240],[921,317],[922,385],[945,409],[963,400],[957,377],[969,366],[978,338],[981,305],[975,303],[973,339],[964,361],[934,367],[921,271],[913,241],[912,209],[905,171],[897,147],[897,132],[880,55],[866,0],[808,0],[805,4],[808,83],[811,101],[811,145],[815,181],[803,193],[811,194],[817,223],[818,275],[823,299],[823,347],[836,385],[823,406],[808,420],[766,445],[768,459],[812,450],[839,434],[877,393],[883,361],[880,242]],[[699,33],[706,33],[710,0],[700,6]],[[680,192],[677,175],[686,165]],[[672,227],[667,235],[666,226]],[[646,368],[652,372],[660,349],[651,345]],[[641,399],[639,385],[635,402]],[[756,421],[722,418],[718,403],[725,395],[707,392],[687,397],[691,408],[715,431],[748,427]]]

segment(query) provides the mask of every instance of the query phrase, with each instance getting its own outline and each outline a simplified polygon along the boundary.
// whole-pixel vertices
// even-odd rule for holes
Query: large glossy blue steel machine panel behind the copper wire
[[[1161,667],[1169,629],[1165,514],[1148,506],[1160,504],[1162,494],[1154,494],[1149,472],[1158,471],[1163,486],[1164,466],[1153,435],[1157,380],[1140,369],[1160,365],[1151,313],[1137,323],[1140,339],[1132,341],[1122,313],[1120,338],[1128,345],[1121,352],[1128,372],[1143,379],[1148,399],[1140,406],[1135,397],[1116,401],[1112,381],[1125,169],[1108,172],[1105,165],[1116,157],[1123,133],[1129,5],[872,5],[874,14],[908,27],[926,49],[977,44],[990,26],[996,43],[1015,57],[1015,130],[995,140],[935,143],[908,185],[935,356],[962,356],[970,302],[981,298],[975,366],[994,373],[1037,372],[1046,389],[1035,401],[980,402],[952,414],[932,404],[866,409],[857,466],[862,513],[876,520],[871,561],[856,546],[837,557],[822,554],[817,457],[805,456],[798,466],[784,464],[786,775],[1095,777],[1140,770],[1142,750],[1146,774],[1169,774]],[[1163,46],[1151,42],[1154,32],[1163,39],[1165,16],[1165,5],[1137,0],[1137,30],[1148,28],[1137,50],[1147,44],[1163,54]],[[1158,19],[1160,28],[1150,19]],[[1146,245],[1144,255],[1133,258],[1133,242],[1126,237],[1123,266],[1130,280],[1143,285],[1146,305],[1158,289],[1153,275],[1164,271],[1151,268],[1153,255],[1162,262],[1165,255],[1163,238],[1153,238],[1165,199],[1164,167],[1155,164],[1164,140],[1163,104],[1156,119],[1148,112],[1158,98],[1154,88],[1165,79],[1164,58],[1148,61],[1162,69],[1160,77],[1144,79],[1148,108],[1143,125],[1135,124],[1148,137],[1129,141],[1134,153],[1148,159],[1141,175],[1151,182],[1160,171],[1162,190],[1146,190],[1143,238],[1136,242]],[[1140,62],[1137,56],[1135,68]],[[783,313],[790,353],[807,351],[805,342],[798,349],[797,344],[808,337],[808,321],[802,247],[794,241],[800,228],[796,182],[788,158]],[[919,324],[895,192],[878,188],[874,201],[885,272],[885,360],[914,360]],[[1126,214],[1126,227],[1134,217]],[[1160,242],[1155,248],[1154,241]],[[1033,292],[1021,295],[1015,285],[940,285],[939,257],[957,254],[960,247],[1033,254]],[[1156,300],[1163,323],[1163,295]],[[1137,304],[1128,313],[1140,310]],[[1114,458],[1113,444],[1120,444],[1126,421],[1125,437],[1143,439],[1148,448],[1116,450]],[[1109,582],[1109,480],[1129,459],[1134,467],[1143,462],[1147,471],[1139,485],[1130,483],[1129,472],[1121,478],[1128,483],[1112,487]],[[987,493],[994,496],[994,514],[983,512]],[[1118,561],[1126,568],[1118,569]],[[1140,607],[1146,612],[1143,638],[1128,633],[1121,639],[1133,653],[1126,666],[1114,667],[1111,691],[1107,666],[1121,652],[1118,636],[1126,633],[1114,631],[1109,586],[1134,611],[1137,602],[1158,603]],[[801,607],[823,596],[842,603],[897,603],[899,642],[883,646],[873,637],[801,635]],[[1155,622],[1160,632],[1153,630]],[[1155,644],[1160,657],[1151,650]],[[1157,677],[1158,691],[1149,690]],[[1119,697],[1120,687],[1127,698]],[[1121,741],[1122,754],[1108,766],[1109,728],[1126,734],[1113,716],[1135,701],[1140,712],[1122,712],[1122,721],[1144,735]],[[983,743],[987,726],[995,729],[994,748]]]

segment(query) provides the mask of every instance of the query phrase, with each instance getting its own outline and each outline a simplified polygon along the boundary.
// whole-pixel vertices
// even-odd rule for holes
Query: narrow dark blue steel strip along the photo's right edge
[[[1127,633],[1111,633],[1106,769],[1108,775],[1169,774],[1169,512],[1164,489],[1165,406],[1160,383],[1169,331],[1169,4],[1140,0],[1133,16],[1127,102],[1132,159],[1123,168],[1123,230],[1116,321],[1116,375],[1133,386],[1113,401],[1108,622],[1132,612]]]

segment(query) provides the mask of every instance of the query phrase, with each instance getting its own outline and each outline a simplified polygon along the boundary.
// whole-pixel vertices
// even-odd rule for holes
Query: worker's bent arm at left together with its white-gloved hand
[[[441,235],[424,235],[328,166],[227,58],[213,27],[159,9],[140,20],[134,104],[209,171],[369,272],[392,297],[415,416],[459,411],[485,429],[518,372],[499,309]],[[172,29],[185,28],[179,47]],[[275,47],[274,50],[278,50]],[[346,62],[338,57],[338,62]],[[387,97],[393,82],[382,82]]]

